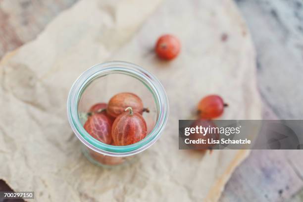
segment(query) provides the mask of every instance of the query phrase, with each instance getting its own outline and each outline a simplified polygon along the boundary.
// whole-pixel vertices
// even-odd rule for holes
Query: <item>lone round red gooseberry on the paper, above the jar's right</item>
[[[180,41],[173,35],[162,35],[155,45],[155,52],[158,57],[166,60],[175,58],[180,52]]]

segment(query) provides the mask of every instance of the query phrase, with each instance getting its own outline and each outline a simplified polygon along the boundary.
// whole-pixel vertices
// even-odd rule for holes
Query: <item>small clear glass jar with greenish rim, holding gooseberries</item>
[[[107,103],[112,96],[121,92],[138,95],[144,107],[149,108],[149,113],[143,113],[147,122],[147,136],[132,145],[107,145],[89,135],[83,125],[93,104]],[[97,64],[85,71],[72,85],[67,99],[68,121],[82,143],[84,155],[101,166],[130,162],[130,156],[151,147],[166,125],[168,111],[168,99],[159,80],[138,65],[123,61]]]

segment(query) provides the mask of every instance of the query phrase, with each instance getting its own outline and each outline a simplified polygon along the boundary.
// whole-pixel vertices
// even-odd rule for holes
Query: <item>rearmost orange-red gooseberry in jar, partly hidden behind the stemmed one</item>
[[[143,113],[143,102],[133,93],[119,93],[113,96],[108,102],[106,112],[112,117],[117,117],[127,107],[132,107],[134,112]]]

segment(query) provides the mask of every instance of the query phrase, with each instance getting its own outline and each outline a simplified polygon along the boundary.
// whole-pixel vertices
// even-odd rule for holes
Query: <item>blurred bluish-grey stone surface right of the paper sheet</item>
[[[236,2],[250,28],[257,52],[263,119],[302,119],[302,0]],[[303,188],[301,159],[302,151],[253,151],[235,170],[220,201],[289,200]],[[266,177],[268,173],[264,170],[271,170],[272,180]],[[293,199],[300,200],[300,195]]]

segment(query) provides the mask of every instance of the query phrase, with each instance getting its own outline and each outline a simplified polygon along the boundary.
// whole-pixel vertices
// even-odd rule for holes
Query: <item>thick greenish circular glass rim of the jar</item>
[[[104,144],[89,135],[80,122],[78,104],[85,88],[96,77],[111,73],[126,74],[140,80],[153,94],[157,110],[159,110],[159,115],[150,134],[132,145],[113,146]],[[92,66],[77,78],[69,91],[67,99],[68,121],[78,139],[91,150],[111,156],[128,156],[148,149],[160,137],[167,123],[168,114],[168,98],[160,81],[142,67],[125,61],[109,61]]]

